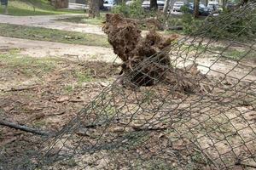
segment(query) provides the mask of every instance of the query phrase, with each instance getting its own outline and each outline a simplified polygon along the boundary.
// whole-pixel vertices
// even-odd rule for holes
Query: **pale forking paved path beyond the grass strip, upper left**
[[[37,26],[44,28],[52,28],[63,31],[79,31],[85,33],[103,35],[101,26],[88,24],[76,24],[70,22],[62,22],[57,19],[63,19],[81,14],[61,14],[61,15],[40,15],[40,16],[10,16],[0,14],[0,23],[15,24],[21,26]]]

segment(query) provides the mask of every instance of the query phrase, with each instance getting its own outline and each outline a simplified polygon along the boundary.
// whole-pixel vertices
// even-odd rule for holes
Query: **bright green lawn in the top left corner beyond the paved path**
[[[8,10],[15,16],[84,13],[83,10],[55,9],[48,0],[9,0]],[[3,6],[0,6],[0,14],[3,14]]]

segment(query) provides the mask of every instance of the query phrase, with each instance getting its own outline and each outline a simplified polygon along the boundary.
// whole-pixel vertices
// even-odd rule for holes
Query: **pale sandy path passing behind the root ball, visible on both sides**
[[[25,54],[31,57],[61,57],[72,60],[99,60],[108,63],[120,62],[120,60],[117,59],[117,56],[113,54],[112,48],[0,37],[0,51],[9,48],[20,48],[20,54]],[[228,77],[242,79],[246,82],[256,81],[255,69],[250,72],[252,68],[256,67],[256,63],[253,63],[250,60],[243,60],[240,65],[237,65],[236,61],[207,56],[190,59],[190,62],[189,60],[186,60],[185,62],[180,60],[179,62],[174,63],[174,65],[184,67],[192,64],[194,61],[199,64],[198,69],[204,74],[208,73],[215,76],[226,75]],[[211,67],[211,69],[209,69],[209,67]],[[248,74],[248,72],[250,72],[250,74]]]

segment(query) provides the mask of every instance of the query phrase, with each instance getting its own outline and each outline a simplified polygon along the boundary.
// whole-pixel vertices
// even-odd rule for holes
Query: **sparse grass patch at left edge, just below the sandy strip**
[[[8,65],[12,71],[19,70],[24,76],[41,76],[46,72],[55,69],[56,62],[59,59],[54,58],[32,58],[20,56],[18,51],[10,51],[7,54],[0,54],[0,63]]]

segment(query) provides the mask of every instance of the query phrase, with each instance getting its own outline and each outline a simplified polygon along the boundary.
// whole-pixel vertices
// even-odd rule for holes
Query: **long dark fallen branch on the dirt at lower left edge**
[[[42,136],[54,136],[53,133],[45,132],[43,130],[33,128],[33,127],[26,127],[24,125],[15,124],[14,122],[8,122],[5,120],[0,120],[0,125],[19,129],[19,130],[25,131],[27,133],[34,133],[34,134],[38,134],[38,135],[42,135]]]

